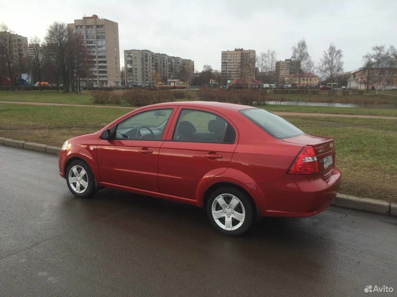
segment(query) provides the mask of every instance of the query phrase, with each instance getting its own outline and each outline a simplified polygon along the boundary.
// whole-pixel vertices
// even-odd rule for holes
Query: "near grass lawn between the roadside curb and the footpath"
[[[128,109],[0,104],[0,136],[61,146]],[[307,133],[335,137],[341,192],[397,202],[397,120],[287,116]]]

